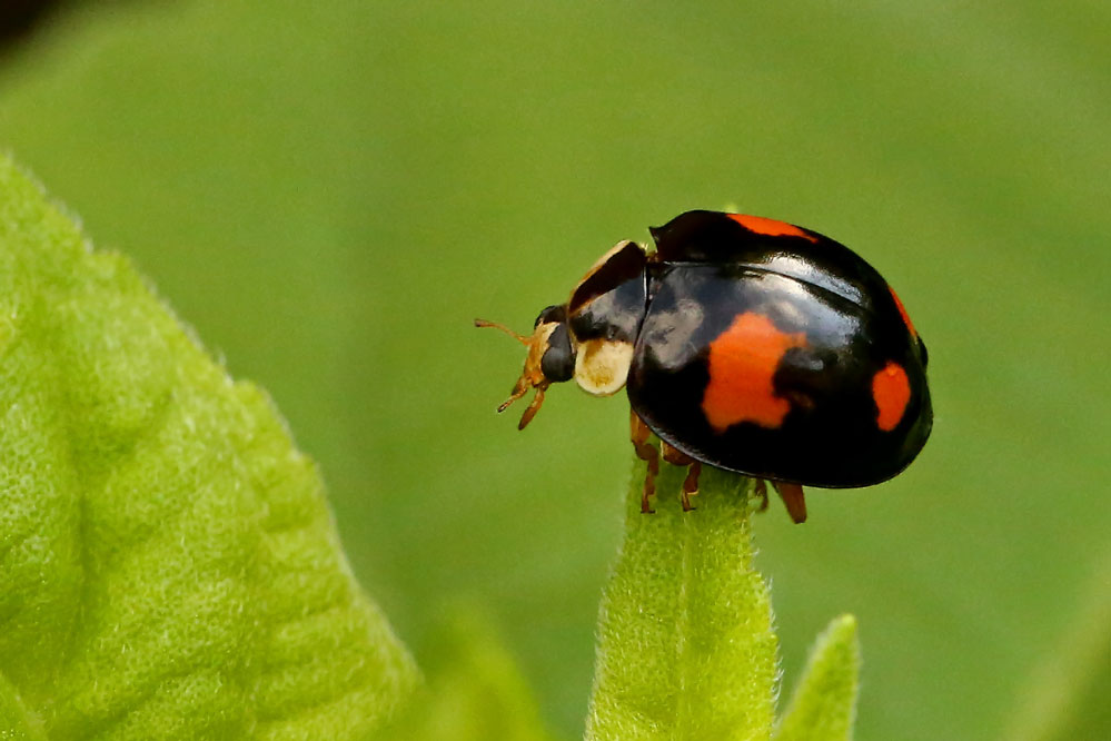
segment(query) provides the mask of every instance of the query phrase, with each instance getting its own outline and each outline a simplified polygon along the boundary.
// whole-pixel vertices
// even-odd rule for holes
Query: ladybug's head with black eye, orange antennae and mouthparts
[[[497,407],[498,412],[505,412],[510,404],[535,388],[536,395],[520,415],[520,423],[517,425],[517,429],[524,429],[539,412],[547,387],[554,383],[571,381],[575,375],[575,348],[567,329],[567,307],[549,306],[540,312],[530,336],[518,335],[500,324],[485,319],[475,319],[475,326],[500,329],[528,348],[525,367],[513,386],[513,393]]]

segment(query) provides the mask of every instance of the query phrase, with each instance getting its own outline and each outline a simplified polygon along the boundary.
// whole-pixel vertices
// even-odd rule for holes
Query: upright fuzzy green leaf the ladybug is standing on
[[[707,468],[697,507],[663,466],[654,515],[634,466],[625,540],[602,603],[586,738],[767,739],[777,640],[753,569],[748,480]]]

